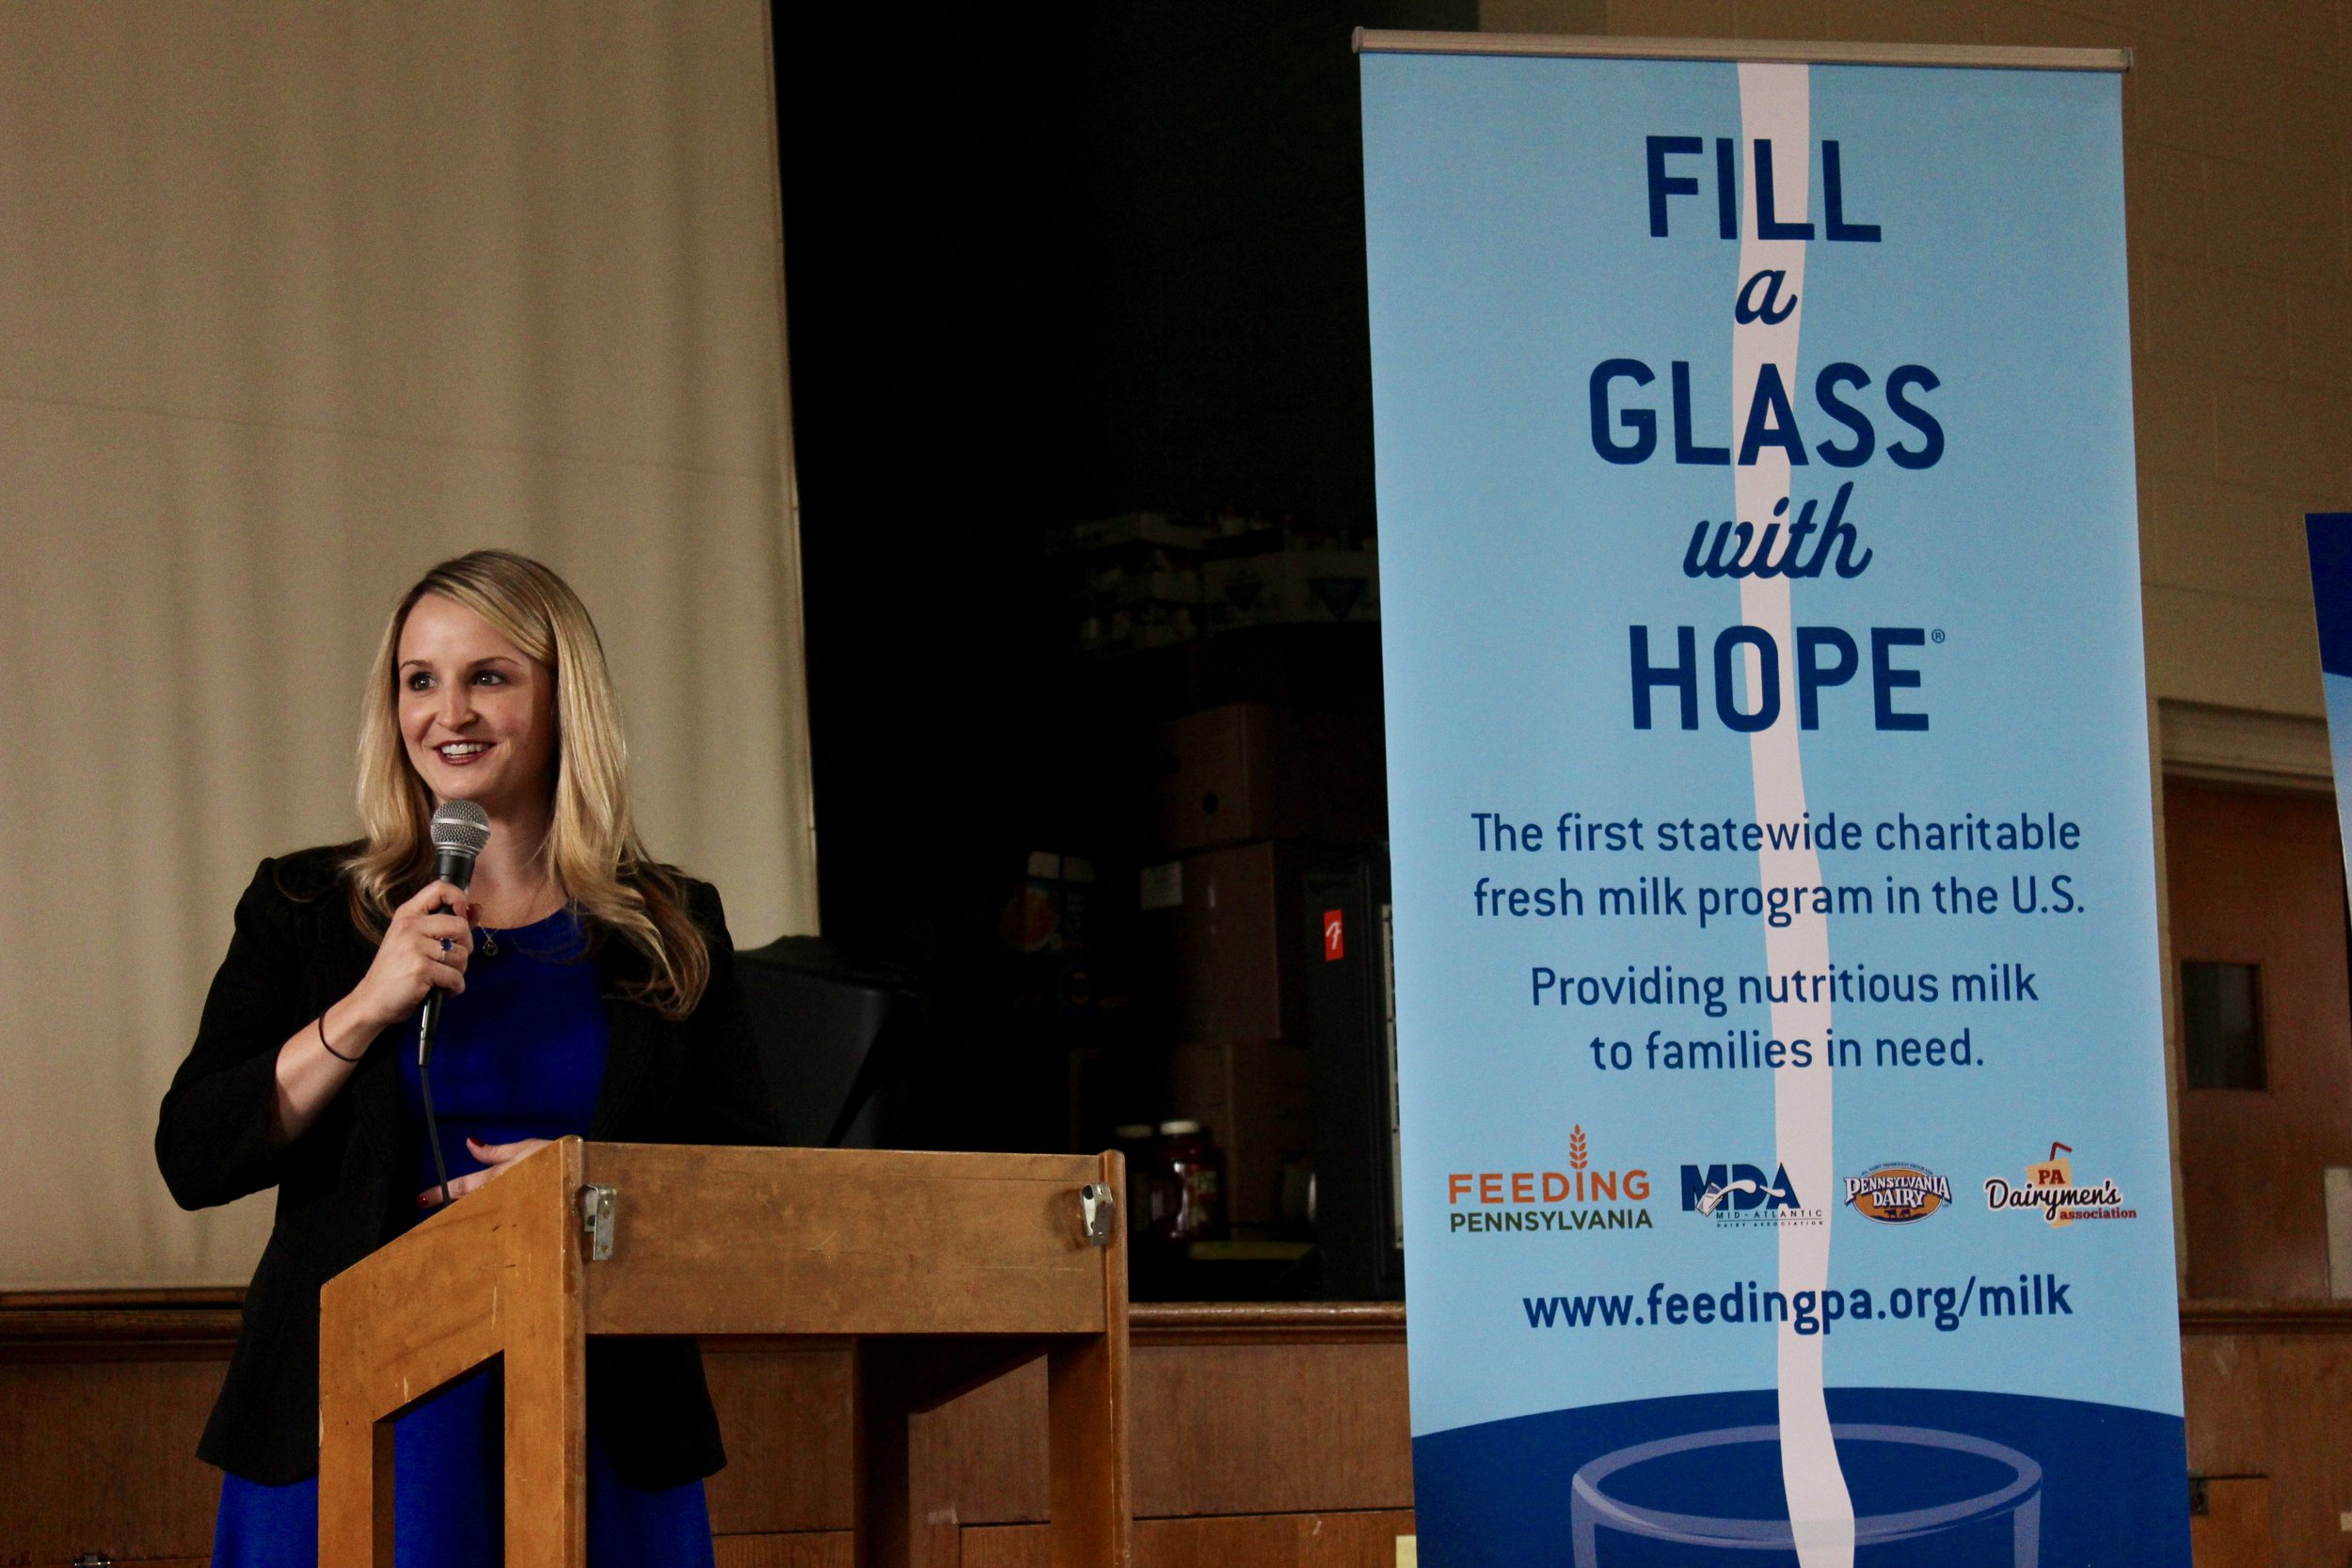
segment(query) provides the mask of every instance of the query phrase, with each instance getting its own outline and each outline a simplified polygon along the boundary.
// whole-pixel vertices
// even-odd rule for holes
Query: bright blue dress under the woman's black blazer
[[[449,1180],[480,1171],[466,1138],[513,1143],[586,1133],[604,1081],[604,1001],[579,919],[564,910],[477,945],[466,994],[442,1009],[433,1110]],[[390,1030],[400,1095],[416,1140],[416,1192],[433,1185],[416,1081],[416,1027]],[[459,1199],[463,1201],[463,1199]],[[423,1211],[419,1211],[423,1218]],[[503,1542],[503,1408],[482,1366],[400,1418],[393,1432],[393,1559],[400,1568],[496,1568]],[[315,1568],[318,1476],[263,1486],[221,1479],[212,1568]],[[710,1568],[703,1483],[628,1486],[588,1427],[590,1568]]]

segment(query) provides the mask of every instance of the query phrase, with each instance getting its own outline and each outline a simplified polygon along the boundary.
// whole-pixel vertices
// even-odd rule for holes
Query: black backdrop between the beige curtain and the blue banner
[[[1044,541],[1371,527],[1350,31],[1475,9],[774,7],[823,931],[931,990],[936,1143],[1091,1138],[1073,1044],[1167,1037],[1124,940],[1160,719],[1378,708],[1369,625],[1080,658]],[[997,938],[1030,851],[1098,867],[1077,994]]]

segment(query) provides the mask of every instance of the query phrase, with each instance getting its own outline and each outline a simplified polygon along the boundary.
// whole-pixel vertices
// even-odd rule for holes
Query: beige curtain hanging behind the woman
[[[242,1281],[155,1103],[350,837],[390,599],[588,599],[656,853],[816,929],[760,0],[0,7],[0,1288]]]

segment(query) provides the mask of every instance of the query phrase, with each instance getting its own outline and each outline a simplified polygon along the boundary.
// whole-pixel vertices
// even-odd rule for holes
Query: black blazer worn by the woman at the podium
[[[198,1458],[263,1483],[318,1469],[318,1288],[416,1218],[419,1133],[400,1105],[397,1030],[376,1039],[301,1138],[270,1143],[278,1048],[346,997],[376,954],[350,924],[346,853],[306,849],[254,872],[155,1126],[155,1164],[181,1208],[278,1187],[278,1225],[198,1443]],[[710,940],[710,987],[680,1023],[621,999],[637,973],[633,950],[593,945],[612,1041],[590,1138],[776,1140],[717,891],[689,884],[689,912]],[[727,1465],[694,1340],[590,1340],[588,1413],[633,1486],[677,1486]]]

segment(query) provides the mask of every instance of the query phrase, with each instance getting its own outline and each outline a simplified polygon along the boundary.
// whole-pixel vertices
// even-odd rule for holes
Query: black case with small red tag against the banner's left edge
[[[1404,1295],[1388,856],[1305,872],[1315,1251],[1327,1300]]]

